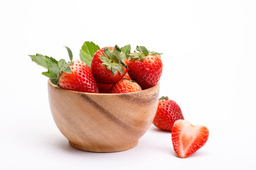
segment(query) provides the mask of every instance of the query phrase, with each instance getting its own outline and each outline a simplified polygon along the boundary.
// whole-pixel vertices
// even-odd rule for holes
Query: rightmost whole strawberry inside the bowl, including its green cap
[[[160,53],[150,52],[143,46],[137,46],[136,50],[139,52],[129,54],[128,74],[142,89],[148,89],[155,86],[161,77],[163,64]]]

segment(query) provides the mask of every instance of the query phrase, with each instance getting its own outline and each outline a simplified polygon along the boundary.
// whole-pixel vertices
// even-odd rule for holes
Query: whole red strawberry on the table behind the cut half
[[[153,124],[161,130],[171,131],[174,122],[179,119],[184,119],[184,117],[178,104],[167,96],[159,98],[159,105]]]

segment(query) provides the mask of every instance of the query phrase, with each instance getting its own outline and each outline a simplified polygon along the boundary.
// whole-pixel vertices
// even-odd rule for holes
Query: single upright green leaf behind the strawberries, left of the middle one
[[[100,47],[98,45],[95,45],[95,43],[85,41],[82,45],[82,49],[80,50],[80,60],[82,60],[82,62],[85,62],[90,67],[92,57],[99,49]]]

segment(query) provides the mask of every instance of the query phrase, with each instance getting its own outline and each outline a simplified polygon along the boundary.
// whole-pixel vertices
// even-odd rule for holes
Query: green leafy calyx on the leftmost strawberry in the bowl
[[[53,57],[48,57],[46,55],[28,55],[31,57],[32,62],[48,69],[47,72],[42,72],[42,74],[50,79],[53,84],[58,85],[58,77],[61,72],[66,72],[71,74],[70,64],[73,64],[73,54],[69,47],[65,47],[68,50],[68,55],[70,57],[70,62],[66,62],[64,59],[59,61],[55,60]]]

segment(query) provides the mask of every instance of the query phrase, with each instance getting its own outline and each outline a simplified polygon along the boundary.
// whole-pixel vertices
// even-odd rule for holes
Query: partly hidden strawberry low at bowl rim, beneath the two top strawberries
[[[142,91],[142,88],[134,81],[122,79],[112,86],[112,94],[131,93],[135,91]]]

